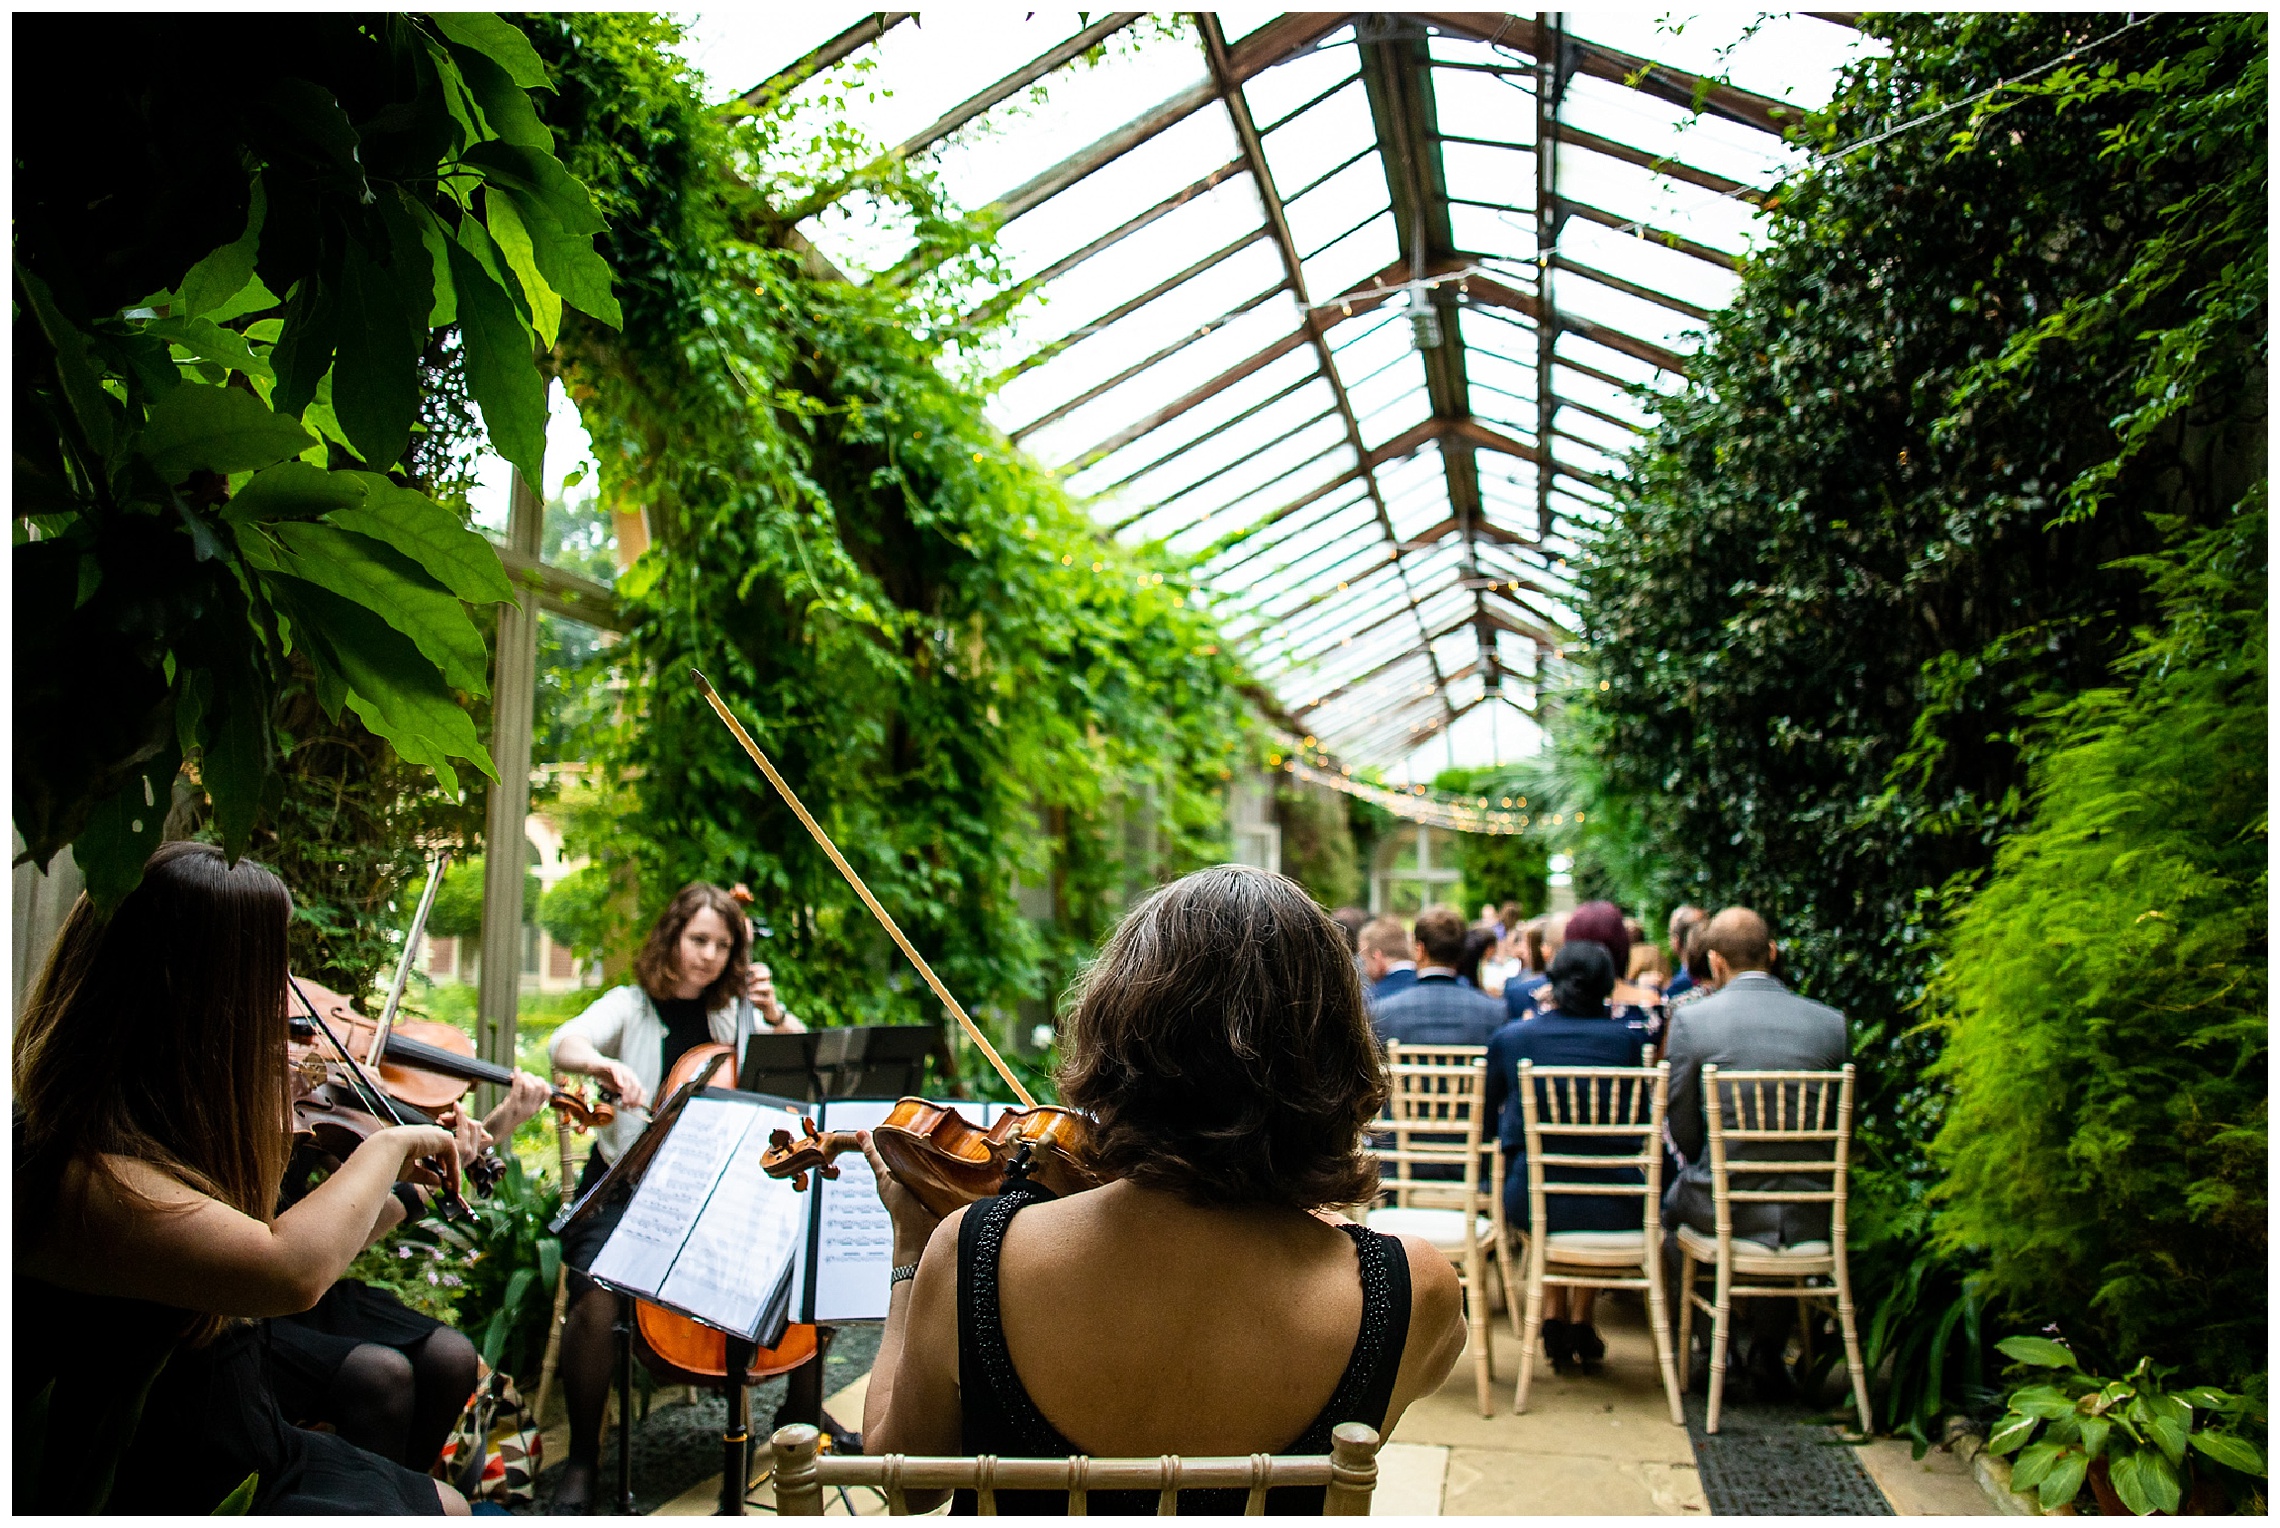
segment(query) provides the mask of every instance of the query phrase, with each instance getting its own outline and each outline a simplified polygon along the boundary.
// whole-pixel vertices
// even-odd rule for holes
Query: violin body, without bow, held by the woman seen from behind
[[[839,1177],[832,1159],[857,1152],[855,1131],[819,1133],[814,1120],[800,1120],[807,1131],[768,1131],[768,1149],[759,1170],[789,1177],[793,1190],[807,1188],[807,1175]],[[946,1104],[896,1099],[887,1117],[871,1129],[887,1172],[919,1197],[935,1216],[1005,1193],[1012,1181],[1037,1184],[1053,1195],[1097,1188],[1099,1177],[1085,1165],[1085,1117],[1058,1104],[1008,1108],[990,1129],[974,1127]]]

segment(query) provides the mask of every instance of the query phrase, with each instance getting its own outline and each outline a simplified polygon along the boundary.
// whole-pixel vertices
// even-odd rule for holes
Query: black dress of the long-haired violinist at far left
[[[116,1471],[105,1512],[207,1514],[253,1473],[253,1512],[442,1512],[426,1476],[331,1432],[285,1423],[262,1373],[262,1327],[233,1325],[192,1348],[180,1341],[192,1320],[189,1311],[148,1300],[84,1295],[16,1275],[18,1446],[30,1441],[27,1409],[48,1393],[34,1485],[46,1505],[16,1501],[18,1512],[84,1512],[107,1460]],[[128,1423],[123,1403],[146,1377],[141,1414]],[[128,1425],[121,1450],[112,1428]]]

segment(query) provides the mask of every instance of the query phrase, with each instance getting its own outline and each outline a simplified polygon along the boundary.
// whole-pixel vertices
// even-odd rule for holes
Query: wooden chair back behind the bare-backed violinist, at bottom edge
[[[1265,1514],[1268,1492],[1284,1485],[1318,1485],[1322,1517],[1368,1517],[1377,1489],[1377,1432],[1361,1423],[1338,1423],[1329,1434],[1329,1453],[1249,1457],[1181,1457],[1147,1460],[1001,1460],[917,1457],[917,1455],[839,1455],[816,1453],[819,1434],[805,1423],[777,1428],[775,1512],[780,1517],[821,1517],[823,1492],[832,1487],[871,1487],[887,1496],[887,1512],[910,1512],[907,1492],[974,1492],[976,1514],[996,1517],[999,1492],[1065,1492],[1069,1517],[1085,1514],[1090,1492],[1156,1492],[1156,1517],[1179,1512],[1179,1494],[1197,1489],[1245,1489],[1245,1517]]]

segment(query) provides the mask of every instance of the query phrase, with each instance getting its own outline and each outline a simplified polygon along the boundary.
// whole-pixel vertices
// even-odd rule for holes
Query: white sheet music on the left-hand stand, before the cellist
[[[759,1170],[759,1149],[768,1131],[798,1127],[798,1115],[782,1108],[689,1099],[588,1273],[752,1336],[809,1216],[791,1184]]]

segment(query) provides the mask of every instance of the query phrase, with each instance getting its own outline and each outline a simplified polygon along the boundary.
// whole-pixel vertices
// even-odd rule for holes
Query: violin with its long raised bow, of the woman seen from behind
[[[976,1049],[996,1067],[996,1074],[1005,1079],[1012,1095],[1021,1102],[1021,1108],[1010,1108],[990,1129],[976,1129],[971,1120],[960,1115],[955,1108],[942,1104],[928,1104],[926,1099],[901,1099],[887,1120],[871,1131],[873,1145],[878,1145],[880,1161],[887,1170],[910,1188],[926,1209],[937,1216],[946,1216],[962,1204],[974,1200],[985,1200],[994,1193],[1003,1193],[1008,1181],[1028,1179],[1042,1184],[1056,1195],[1081,1193],[1094,1188],[1099,1177],[1085,1168],[1083,1156],[1090,1140],[1090,1127],[1083,1115],[1053,1106],[1037,1104],[1015,1076],[1005,1058],[996,1054],[990,1038],[980,1026],[967,1015],[964,1006],[951,997],[951,990],[942,985],[935,976],[935,967],[926,962],[926,956],[910,942],[903,928],[887,915],[864,885],[855,867],[846,862],[839,846],[832,844],[823,826],[816,823],[814,814],[800,803],[784,778],[768,762],[768,755],[759,750],[752,734],[743,730],[736,714],[727,709],[720,693],[714,691],[711,680],[707,680],[695,668],[689,670],[698,689],[705,691],[705,700],[711,705],[720,725],[734,734],[743,746],[759,773],[768,778],[775,794],[782,796],[791,814],[800,819],[807,835],[823,848],[832,867],[846,878],[862,899],[862,905],[871,910],[887,937],[894,940],[896,949],[910,960],[910,965],[926,978],[942,1006],[958,1019],[967,1038],[974,1040]],[[814,1122],[803,1120],[807,1133],[800,1140],[791,1138],[791,1131],[773,1131],[768,1149],[762,1152],[762,1170],[773,1177],[789,1177],[791,1186],[805,1188],[807,1172],[821,1172],[825,1177],[839,1177],[832,1168],[832,1159],[839,1152],[855,1147],[855,1136],[846,1131],[832,1131],[830,1136],[816,1133]]]

